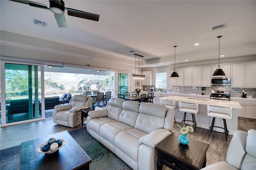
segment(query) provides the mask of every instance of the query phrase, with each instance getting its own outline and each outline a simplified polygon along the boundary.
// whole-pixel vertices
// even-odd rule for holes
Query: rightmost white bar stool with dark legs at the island
[[[221,108],[221,107],[214,107],[214,106],[207,105],[207,115],[213,117],[208,136],[211,135],[211,132],[214,127],[221,128],[221,129],[224,129],[225,139],[226,139],[226,141],[228,141],[227,136],[228,136],[229,131],[227,128],[226,119],[228,119],[228,120],[232,119],[232,108]],[[223,120],[224,128],[219,127],[219,126],[214,126],[215,118],[221,118]],[[220,132],[220,133],[222,133],[222,132]]]

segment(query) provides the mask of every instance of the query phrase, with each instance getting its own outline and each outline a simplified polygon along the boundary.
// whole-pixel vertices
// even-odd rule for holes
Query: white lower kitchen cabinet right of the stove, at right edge
[[[238,110],[238,116],[242,118],[256,119],[256,101],[231,99],[231,101],[239,102],[241,110]]]

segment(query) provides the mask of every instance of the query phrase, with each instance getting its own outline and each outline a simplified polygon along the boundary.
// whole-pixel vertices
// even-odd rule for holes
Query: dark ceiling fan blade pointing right
[[[84,18],[84,19],[93,20],[93,21],[99,21],[99,18],[100,18],[100,15],[93,14],[93,13],[90,13],[90,12],[74,10],[74,9],[71,9],[71,8],[65,8],[65,10],[68,10],[68,15],[76,16],[78,18]]]

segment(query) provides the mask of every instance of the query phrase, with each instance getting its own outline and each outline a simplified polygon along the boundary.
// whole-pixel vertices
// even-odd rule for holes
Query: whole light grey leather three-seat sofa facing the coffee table
[[[134,170],[156,169],[154,146],[172,133],[174,110],[163,105],[111,98],[86,119],[87,131]]]

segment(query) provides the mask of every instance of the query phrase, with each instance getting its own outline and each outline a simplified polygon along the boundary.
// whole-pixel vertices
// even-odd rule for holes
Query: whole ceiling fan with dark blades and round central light
[[[100,15],[98,14],[92,14],[90,12],[84,12],[84,11],[75,10],[72,8],[66,8],[63,0],[49,0],[50,8],[47,8],[45,4],[32,2],[29,0],[10,0],[10,1],[20,2],[22,4],[28,4],[29,6],[52,11],[54,13],[54,17],[60,28],[67,27],[65,16],[64,16],[64,10],[68,11],[68,15],[76,16],[78,18],[84,18],[84,19],[93,20],[93,21],[99,21],[99,18],[100,18]]]

